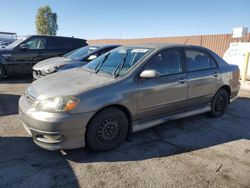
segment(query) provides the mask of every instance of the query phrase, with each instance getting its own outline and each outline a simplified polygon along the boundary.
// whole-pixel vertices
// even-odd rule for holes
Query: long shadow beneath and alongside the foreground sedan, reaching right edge
[[[88,149],[66,151],[78,163],[138,161],[167,157],[240,139],[250,139],[250,99],[239,98],[220,118],[205,114],[175,120],[131,135],[114,151],[93,153]]]

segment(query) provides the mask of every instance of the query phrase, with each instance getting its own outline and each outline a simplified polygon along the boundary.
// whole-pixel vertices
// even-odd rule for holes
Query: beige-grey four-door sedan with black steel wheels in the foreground
[[[220,117],[240,89],[239,68],[209,49],[122,46],[78,69],[33,82],[19,114],[48,150],[118,147],[131,132],[208,112]]]

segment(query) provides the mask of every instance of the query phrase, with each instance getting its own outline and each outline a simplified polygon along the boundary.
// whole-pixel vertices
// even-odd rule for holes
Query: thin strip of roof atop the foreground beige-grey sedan
[[[189,44],[176,44],[176,43],[145,43],[145,44],[132,44],[125,45],[128,47],[136,47],[136,48],[153,48],[153,49],[164,49],[171,47],[198,47],[203,48],[201,46],[189,45]]]

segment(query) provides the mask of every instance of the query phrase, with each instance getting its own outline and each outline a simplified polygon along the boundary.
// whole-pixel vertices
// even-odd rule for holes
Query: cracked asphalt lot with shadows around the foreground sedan
[[[29,83],[0,83],[0,187],[250,187],[250,92],[219,119],[168,122],[94,154],[33,144],[17,111]]]

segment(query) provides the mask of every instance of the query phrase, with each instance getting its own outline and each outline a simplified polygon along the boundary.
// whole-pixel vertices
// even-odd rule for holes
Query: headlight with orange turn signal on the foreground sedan
[[[80,103],[80,99],[73,96],[52,97],[40,101],[36,105],[37,111],[68,112]]]

